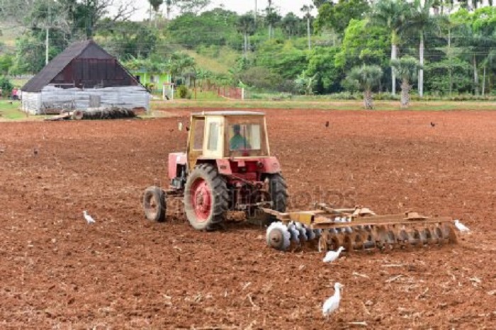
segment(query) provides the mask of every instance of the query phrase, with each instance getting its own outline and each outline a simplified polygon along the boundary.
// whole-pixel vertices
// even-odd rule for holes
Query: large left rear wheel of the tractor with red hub
[[[214,230],[220,227],[228,202],[225,178],[215,166],[201,164],[191,171],[184,189],[184,207],[193,228]]]

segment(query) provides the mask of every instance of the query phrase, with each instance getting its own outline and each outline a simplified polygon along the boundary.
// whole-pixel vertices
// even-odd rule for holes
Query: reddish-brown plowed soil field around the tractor
[[[196,232],[177,201],[147,222],[142,191],[167,186],[167,154],[186,147],[188,111],[171,113],[0,123],[1,328],[495,329],[496,113],[267,110],[292,210],[361,204],[471,229],[332,264],[269,249],[257,226]]]

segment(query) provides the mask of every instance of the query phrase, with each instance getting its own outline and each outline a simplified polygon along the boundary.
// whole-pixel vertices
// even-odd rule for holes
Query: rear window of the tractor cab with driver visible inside
[[[230,118],[227,131],[232,156],[261,156],[265,154],[264,122],[262,118],[239,120]]]

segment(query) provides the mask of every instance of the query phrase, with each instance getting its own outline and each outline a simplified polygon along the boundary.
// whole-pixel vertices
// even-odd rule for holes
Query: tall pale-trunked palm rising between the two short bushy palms
[[[372,7],[371,24],[383,26],[391,33],[391,60],[396,59],[400,34],[405,28],[410,4],[402,0],[379,0]],[[396,94],[396,74],[391,68],[391,93]]]

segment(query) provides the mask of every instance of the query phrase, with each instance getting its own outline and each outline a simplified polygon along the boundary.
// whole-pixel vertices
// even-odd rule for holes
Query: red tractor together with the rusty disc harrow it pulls
[[[316,210],[286,212],[286,181],[270,154],[264,113],[191,115],[186,152],[169,154],[169,179],[167,190],[145,190],[148,220],[165,220],[167,196],[184,198],[186,217],[199,230],[222,227],[235,212],[247,220],[275,220],[266,230],[266,243],[280,251],[315,239],[320,251],[456,243],[448,217],[376,215],[366,207],[337,209],[321,203],[314,205]]]

